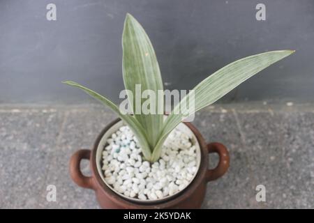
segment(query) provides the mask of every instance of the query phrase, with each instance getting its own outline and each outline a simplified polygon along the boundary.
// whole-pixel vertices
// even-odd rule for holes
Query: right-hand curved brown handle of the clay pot
[[[207,150],[209,153],[218,153],[219,155],[219,162],[215,169],[207,170],[206,180],[216,180],[223,176],[227,169],[229,168],[230,157],[227,151],[227,148],[218,142],[213,142],[211,144],[207,144]]]

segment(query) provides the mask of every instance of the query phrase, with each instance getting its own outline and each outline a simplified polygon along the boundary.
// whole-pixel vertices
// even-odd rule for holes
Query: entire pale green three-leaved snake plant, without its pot
[[[158,61],[151,41],[140,23],[130,14],[126,15],[124,22],[122,47],[123,77],[124,86],[126,90],[128,90],[127,92],[131,92],[135,95],[136,84],[141,84],[143,91],[151,90],[156,92],[163,90]],[[193,89],[193,97],[191,97],[190,93],[186,95],[186,97],[172,109],[172,112],[165,120],[163,114],[136,114],[134,111],[135,107],[132,106],[135,102],[135,98],[132,97],[135,96],[132,94],[128,95],[128,100],[134,115],[124,114],[117,105],[103,95],[87,89],[80,84],[71,81],[63,83],[82,89],[91,95],[91,97],[96,98],[96,100],[110,107],[110,109],[117,113],[133,131],[142,148],[144,158],[150,162],[156,162],[160,157],[160,151],[168,134],[185,118],[183,114],[178,112],[182,105],[186,105],[188,101],[192,101],[195,105],[194,111],[197,112],[197,110],[216,102],[216,100],[223,97],[223,95],[249,77],[252,77],[271,64],[289,56],[293,52],[293,50],[264,52],[262,54],[239,59],[220,68],[220,70],[214,72],[200,82],[200,84],[197,84]],[[141,103],[143,103],[142,100]],[[161,104],[163,105],[163,101]],[[158,105],[160,106],[160,101]]]

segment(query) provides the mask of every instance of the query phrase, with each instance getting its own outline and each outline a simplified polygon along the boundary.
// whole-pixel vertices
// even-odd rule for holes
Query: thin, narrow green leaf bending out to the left
[[[133,131],[135,137],[137,137],[137,140],[139,141],[140,146],[142,147],[142,153],[143,153],[144,157],[147,160],[150,160],[151,149],[149,148],[149,144],[147,143],[147,137],[145,134],[145,130],[142,128],[142,125],[140,125],[140,123],[133,116],[131,116],[129,114],[121,114],[117,105],[115,105],[113,102],[111,102],[107,98],[103,97],[99,93],[96,93],[95,91],[87,89],[86,87],[84,87],[80,84],[77,84],[75,82],[66,81],[63,83],[68,84],[70,86],[75,86],[79,89],[82,89],[83,91],[85,91],[86,93],[91,95],[91,97],[95,98],[96,100],[99,100],[104,105],[107,105],[107,107],[112,109],[113,112],[117,113],[118,116],[121,118],[121,120],[123,120],[130,127],[130,129]]]

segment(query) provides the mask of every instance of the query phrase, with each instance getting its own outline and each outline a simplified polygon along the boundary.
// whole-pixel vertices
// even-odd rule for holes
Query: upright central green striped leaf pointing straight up
[[[151,41],[140,23],[130,14],[126,15],[124,22],[122,46],[124,86],[133,93],[133,95],[128,94],[128,99],[133,107],[135,118],[147,131],[149,145],[154,148],[163,128],[163,113],[158,114],[158,108],[163,106],[163,97],[157,98],[157,91],[163,91],[163,82]],[[142,104],[147,99],[138,94],[137,99],[135,98],[136,84],[140,84],[142,92],[150,90],[154,93],[155,98],[151,98],[151,105],[149,106],[149,108],[155,108],[153,109],[154,112],[143,114]]]

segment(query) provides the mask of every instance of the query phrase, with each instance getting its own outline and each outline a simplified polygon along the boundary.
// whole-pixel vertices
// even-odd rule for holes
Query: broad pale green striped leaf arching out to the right
[[[196,112],[197,110],[216,102],[216,100],[223,97],[223,95],[237,87],[246,79],[252,77],[271,64],[289,56],[293,52],[294,51],[292,50],[281,50],[248,56],[244,59],[239,59],[238,61],[230,63],[214,72],[213,75],[204,79],[200,84],[197,84],[194,88],[195,98],[190,98],[190,94],[188,94],[186,98],[181,100],[179,105],[174,108],[170,116],[167,117],[162,134],[160,135],[161,137],[154,148],[151,157],[152,161],[154,162],[158,160],[167,135],[182,121],[183,116],[179,110],[183,103],[188,104],[189,100],[193,100],[195,102]]]

